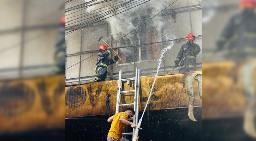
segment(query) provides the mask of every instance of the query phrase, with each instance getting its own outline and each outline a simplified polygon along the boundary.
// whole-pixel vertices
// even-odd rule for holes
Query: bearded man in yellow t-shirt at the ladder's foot
[[[128,141],[122,134],[126,125],[131,125],[132,128],[136,128],[136,125],[128,121],[128,118],[133,117],[135,111],[132,108],[128,108],[125,112],[119,112],[112,117],[108,118],[108,122],[111,123],[111,128],[108,132],[108,141]]]

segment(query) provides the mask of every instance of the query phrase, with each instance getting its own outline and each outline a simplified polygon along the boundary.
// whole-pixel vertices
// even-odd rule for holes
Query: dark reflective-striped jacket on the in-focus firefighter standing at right
[[[180,62],[181,68],[196,68],[196,55],[201,51],[198,44],[187,41],[179,50],[175,62]]]

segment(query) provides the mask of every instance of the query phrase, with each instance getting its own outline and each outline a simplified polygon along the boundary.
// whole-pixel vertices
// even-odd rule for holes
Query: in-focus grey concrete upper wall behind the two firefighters
[[[79,5],[84,3],[84,0],[79,0],[79,1],[73,1],[70,2],[70,4],[66,5],[66,8]],[[170,3],[170,2],[168,2]],[[170,3],[171,4],[171,3]],[[187,6],[190,6],[190,12],[187,8]],[[193,9],[193,7],[197,6],[197,8]],[[199,8],[198,8],[199,7]],[[177,9],[175,9],[177,8]],[[179,11],[180,10],[180,11]],[[75,10],[76,11],[76,10]],[[82,10],[83,12],[84,10]],[[175,11],[176,12],[176,22],[174,23],[174,19],[171,16],[171,12]],[[195,36],[197,35],[202,35],[202,8],[200,5],[200,2],[198,0],[189,0],[189,3],[187,0],[181,0],[181,1],[176,1],[174,2],[173,5],[168,7],[168,10],[163,11],[165,14],[162,14],[162,21],[164,23],[164,26],[162,28],[162,33],[158,33],[158,37],[160,38],[159,41],[166,41],[168,40],[165,38],[163,33],[173,33],[176,38],[184,38],[186,37],[187,33],[193,32]],[[169,12],[169,13],[168,13]],[[67,12],[69,14],[66,16],[66,18],[73,19],[77,17],[78,14],[81,14],[81,11],[76,12],[76,13],[71,13]],[[118,15],[117,15],[118,16]],[[73,18],[71,18],[73,17]],[[79,17],[79,16],[78,16]],[[191,21],[190,21],[191,17]],[[149,18],[148,18],[149,19]],[[75,20],[76,22],[78,20]],[[67,25],[66,24],[66,29],[69,28],[72,25],[78,24],[80,22],[74,23]],[[150,21],[147,23],[146,26],[146,31],[149,32],[152,29],[150,29]],[[128,26],[128,25],[127,25]],[[192,29],[191,29],[192,27]],[[98,49],[99,45],[104,44],[103,42],[97,42],[100,36],[103,36],[103,39],[108,42],[109,44],[115,42],[117,39],[112,39],[111,38],[111,29],[109,27],[109,24],[106,21],[101,21],[97,23],[96,25],[91,25],[91,26],[86,26],[83,27],[82,29],[78,29],[68,35],[66,35],[67,39],[67,56],[66,56],[66,68],[71,67],[72,65],[75,65],[80,61],[80,48],[81,48],[81,30],[83,30],[83,35],[82,35],[82,54],[81,54],[81,81],[84,82],[90,82],[94,76],[96,75],[95,73],[95,65],[97,62],[97,52],[96,50]],[[66,32],[70,31],[70,29],[66,30]],[[136,31],[135,31],[136,32]],[[139,35],[144,36],[144,35]],[[148,36],[145,35],[147,38]],[[162,39],[161,39],[162,38]],[[137,41],[136,41],[137,42]],[[149,43],[149,42],[146,42]],[[165,70],[161,69],[160,71],[165,71],[160,74],[166,74],[166,72],[170,71],[171,68],[174,65],[177,53],[181,47],[182,44],[186,43],[186,41],[180,40],[174,43],[173,47],[166,51],[164,61],[162,61],[162,64],[160,67],[166,67]],[[202,37],[196,38],[195,43],[198,44],[201,47],[202,50]],[[118,45],[119,44],[119,45]],[[160,43],[161,44],[161,43]],[[168,46],[169,43],[163,43],[162,48],[165,48]],[[120,47],[120,43],[117,42],[112,45],[112,47]],[[133,47],[132,47],[133,48]],[[83,51],[91,51],[95,50],[95,52],[90,52],[90,53],[83,53]],[[95,54],[95,55],[94,55]],[[91,56],[93,55],[93,56]],[[91,56],[91,57],[90,57]],[[87,57],[89,57],[87,59]],[[84,60],[86,59],[86,60]],[[84,60],[84,61],[83,61]],[[197,63],[202,62],[202,51],[197,55]],[[83,83],[79,82],[79,65],[77,65],[69,68],[66,70],[66,82],[67,84],[76,84],[76,83]],[[157,60],[147,60],[147,61],[141,61],[141,62],[136,62],[135,67],[139,67],[142,70],[143,69],[150,69],[150,68],[157,68],[158,63]],[[201,65],[198,65],[198,70],[201,70],[200,68]],[[113,72],[111,66],[108,67],[108,72],[109,73],[118,73],[120,69],[123,69],[123,72],[126,71],[134,71],[134,64],[133,63],[127,63],[127,64],[120,64],[119,61],[115,64],[113,64]],[[156,70],[151,71],[153,75]],[[144,71],[146,72],[146,71]],[[150,72],[150,71],[147,71]],[[174,71],[174,73],[177,73],[177,70]],[[143,75],[143,71],[142,71]],[[108,78],[111,78],[111,76],[107,76]],[[118,75],[114,75],[114,79],[117,79]]]

